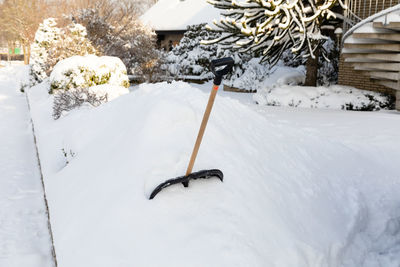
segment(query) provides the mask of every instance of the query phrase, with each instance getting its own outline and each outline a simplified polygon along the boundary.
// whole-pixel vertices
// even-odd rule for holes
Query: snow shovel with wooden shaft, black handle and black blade
[[[203,120],[200,125],[199,133],[197,135],[196,143],[193,148],[192,156],[190,157],[189,166],[186,170],[186,174],[184,176],[172,178],[172,179],[169,179],[169,180],[161,183],[159,186],[157,186],[153,190],[153,192],[150,195],[150,199],[153,199],[161,190],[163,190],[164,188],[166,188],[170,185],[182,183],[184,187],[188,187],[190,180],[208,179],[211,177],[217,177],[221,180],[221,182],[223,181],[224,174],[222,173],[222,171],[220,171],[218,169],[202,170],[202,171],[193,172],[193,173],[192,173],[192,170],[193,170],[194,162],[197,157],[197,153],[199,152],[199,148],[200,148],[201,140],[203,139],[204,131],[206,130],[208,118],[210,117],[211,109],[214,104],[214,100],[217,95],[219,85],[222,82],[222,77],[225,74],[228,74],[232,70],[233,63],[234,63],[234,61],[231,57],[226,57],[226,58],[221,58],[221,59],[216,59],[216,60],[211,61],[211,70],[212,70],[213,74],[215,75],[214,85],[212,87],[210,97],[208,99],[206,111],[204,112]],[[224,68],[217,70],[218,67],[224,67]]]

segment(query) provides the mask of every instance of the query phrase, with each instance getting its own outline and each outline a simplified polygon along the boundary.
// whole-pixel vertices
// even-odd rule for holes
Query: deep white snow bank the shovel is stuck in
[[[184,174],[210,86],[143,84],[57,121],[48,88],[29,90],[60,266],[399,266],[397,112],[221,92],[195,170],[224,182],[148,200]]]

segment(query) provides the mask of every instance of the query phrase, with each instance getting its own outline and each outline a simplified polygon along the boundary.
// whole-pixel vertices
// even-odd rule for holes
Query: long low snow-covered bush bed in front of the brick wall
[[[253,96],[260,105],[359,111],[393,109],[393,99],[348,86],[306,87],[279,84]]]

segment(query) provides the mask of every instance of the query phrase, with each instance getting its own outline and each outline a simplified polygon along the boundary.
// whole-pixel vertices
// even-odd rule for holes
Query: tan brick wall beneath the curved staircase
[[[369,78],[369,76],[364,75],[362,71],[354,70],[351,64],[344,62],[343,57],[340,57],[339,61],[339,84],[395,95],[395,90],[373,82],[373,80]]]

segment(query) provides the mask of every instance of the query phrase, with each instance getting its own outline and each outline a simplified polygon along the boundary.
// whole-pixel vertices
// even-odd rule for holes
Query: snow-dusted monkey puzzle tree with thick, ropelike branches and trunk
[[[220,43],[240,52],[254,51],[264,61],[275,65],[282,53],[291,48],[295,54],[309,58],[306,84],[316,85],[315,68],[319,54],[326,60],[322,44],[327,36],[321,26],[336,18],[332,9],[341,0],[208,0],[224,10],[214,21],[221,32],[218,39],[204,43]],[[314,71],[312,69],[314,68]]]

